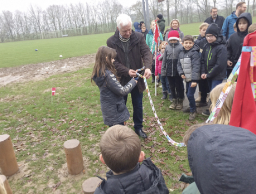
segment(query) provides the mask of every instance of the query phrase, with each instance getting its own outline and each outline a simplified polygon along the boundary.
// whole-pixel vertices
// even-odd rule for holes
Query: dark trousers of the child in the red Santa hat
[[[169,86],[170,86],[170,90],[171,90],[171,94],[172,97],[174,99],[176,98],[180,98],[183,99],[184,98],[184,84],[183,84],[183,79],[180,76],[167,76],[168,78],[168,82],[169,82]],[[176,96],[176,91],[177,91],[177,95]]]

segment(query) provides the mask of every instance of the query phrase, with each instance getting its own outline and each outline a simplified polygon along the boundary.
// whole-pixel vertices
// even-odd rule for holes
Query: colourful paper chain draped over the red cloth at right
[[[254,82],[254,66],[256,66],[256,47],[244,46],[242,49],[242,52],[251,52],[250,80],[251,80],[253,95],[256,101],[256,82]],[[227,80],[227,83],[225,87],[222,89],[222,93],[218,98],[215,104],[215,107],[206,122],[213,122],[213,120],[218,116],[225,99],[228,97],[228,94],[232,88],[232,85],[236,82],[238,78],[240,66],[241,66],[241,58],[242,58],[242,55],[240,56],[239,61],[234,67],[232,73],[230,74]]]

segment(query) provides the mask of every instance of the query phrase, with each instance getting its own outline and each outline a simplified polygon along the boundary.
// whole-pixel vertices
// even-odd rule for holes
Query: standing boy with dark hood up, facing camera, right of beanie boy
[[[244,42],[244,38],[248,34],[248,28],[252,25],[253,19],[251,13],[242,13],[236,22],[237,32],[232,34],[229,38],[227,50],[228,50],[228,68],[227,77],[230,76],[237,61],[235,60],[236,54],[239,51],[240,45]]]

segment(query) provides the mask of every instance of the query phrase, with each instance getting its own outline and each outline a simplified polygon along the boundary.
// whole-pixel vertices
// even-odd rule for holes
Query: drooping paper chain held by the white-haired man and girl
[[[142,71],[142,70],[144,70],[144,69],[145,69],[145,67],[136,70],[136,72],[137,72],[136,74],[137,74],[139,77],[141,77],[141,78],[143,78],[143,76],[142,76],[141,74],[139,74],[138,72],[140,72],[140,71]],[[156,118],[156,120],[157,120],[157,123],[158,123],[158,125],[159,125],[161,131],[163,132],[163,134],[165,135],[165,137],[168,139],[168,141],[169,141],[172,145],[175,145],[175,146],[178,146],[178,147],[184,147],[184,146],[186,146],[184,143],[175,142],[175,141],[174,141],[173,139],[171,139],[171,138],[169,137],[169,135],[165,132],[165,130],[164,130],[164,128],[163,128],[163,126],[162,126],[162,124],[161,124],[161,122],[160,122],[160,120],[159,120],[159,118],[158,118],[158,116],[157,116],[155,106],[154,106],[153,101],[152,101],[152,99],[151,99],[150,92],[149,92],[149,88],[148,88],[148,84],[147,84],[147,80],[146,80],[146,78],[143,78],[143,80],[144,80],[144,83],[145,83],[146,91],[147,91],[147,93],[148,93],[150,105],[151,105],[151,107],[152,107],[152,110],[153,110],[153,112],[154,112],[155,118]]]

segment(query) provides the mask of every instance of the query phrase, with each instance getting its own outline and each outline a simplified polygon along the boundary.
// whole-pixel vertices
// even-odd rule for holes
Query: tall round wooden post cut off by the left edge
[[[3,175],[11,176],[18,171],[18,164],[9,135],[0,135],[0,169]]]

